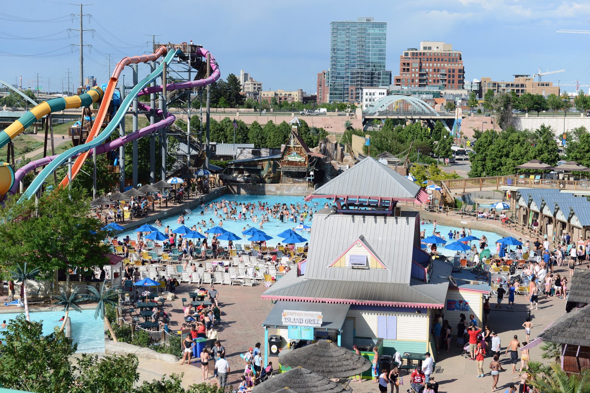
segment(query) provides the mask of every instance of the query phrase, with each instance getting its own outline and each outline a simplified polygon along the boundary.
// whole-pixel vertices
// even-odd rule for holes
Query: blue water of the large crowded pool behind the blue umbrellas
[[[287,207],[289,207],[289,205],[293,204],[293,205],[297,205],[297,203],[300,204],[300,212],[303,212],[303,205],[307,203],[307,207],[312,208],[313,211],[317,211],[319,209],[322,209],[324,207],[324,204],[326,203],[327,199],[312,199],[312,201],[310,202],[305,202],[303,200],[303,196],[281,196],[281,195],[235,195],[235,194],[226,194],[223,196],[220,196],[219,198],[215,198],[212,199],[212,201],[209,201],[208,204],[215,204],[218,201],[222,201],[224,199],[231,201],[232,205],[235,205],[233,202],[237,202],[238,204],[240,204],[240,202],[242,204],[244,203],[248,203],[248,202],[255,202],[256,204],[258,204],[258,201],[263,202],[263,203],[267,203],[268,206],[272,207],[274,204],[287,204]],[[314,201],[317,205],[314,204]],[[318,204],[319,202],[319,204]],[[204,215],[199,215],[199,213],[201,213],[201,211],[203,211],[204,209],[199,207],[196,207],[195,209],[192,209],[192,214],[189,214],[188,217],[185,217],[185,224],[186,227],[192,228],[193,225],[196,224],[197,226],[197,230],[201,233],[203,233],[204,235],[207,235],[204,233],[204,231],[206,231],[208,228],[204,228],[201,225],[199,225],[199,222],[201,222],[201,220],[205,220],[205,222],[209,222],[209,219],[212,218],[215,225],[219,225],[219,217],[215,217],[214,216],[214,212],[209,210],[207,212],[205,212]],[[222,212],[222,211],[220,211]],[[238,212],[240,212],[240,209],[238,209]],[[255,215],[258,215],[258,221],[260,222],[260,217],[261,217],[261,211],[255,210],[254,211]],[[250,213],[247,213],[247,216],[250,217]],[[281,222],[280,220],[278,220],[278,218],[272,218],[272,215],[269,215],[268,218],[270,218],[270,222],[265,222],[263,225],[263,231],[266,232],[267,235],[272,236],[273,238],[271,240],[267,241],[267,245],[271,245],[274,246],[277,243],[283,243],[283,239],[278,237],[277,235],[280,232],[283,232],[284,230],[287,230],[289,228],[294,228],[297,225],[299,225],[299,222],[293,222],[293,221],[286,221],[286,222]],[[175,230],[176,228],[178,228],[179,226],[181,226],[182,224],[178,224],[178,222],[176,222],[176,220],[178,220],[178,216],[173,216],[173,217],[168,217],[162,220],[162,227],[159,228],[159,230],[161,232],[164,232],[164,228],[166,228],[166,225],[170,225],[171,230]],[[309,221],[309,219],[306,218],[305,224],[312,227],[312,222],[313,221]],[[150,222],[150,224],[153,224],[153,222]],[[236,240],[234,241],[234,243],[242,243],[242,244],[247,244],[248,242],[248,235],[242,235],[242,231],[245,229],[250,228],[250,226],[254,226],[255,228],[259,228],[260,224],[256,224],[254,222],[252,222],[250,219],[248,220],[238,220],[238,221],[232,221],[232,220],[223,220],[223,227],[225,228],[225,230],[228,230],[230,232],[234,232],[236,235],[241,236],[242,240]],[[422,229],[426,230],[426,236],[430,236],[432,234],[432,224],[429,224],[428,222],[426,222],[424,225],[421,225]],[[200,229],[199,229],[200,228]],[[466,227],[467,228],[467,227]],[[448,227],[447,225],[437,225],[437,231],[441,232],[441,235],[444,236],[445,238],[448,238],[447,234],[449,230],[460,230],[461,228],[454,228],[454,227]],[[306,239],[309,239],[309,232],[307,231],[298,231],[299,234],[301,236],[303,236]],[[489,244],[493,244],[493,241],[498,240],[499,238],[501,238],[502,236],[494,233],[494,232],[486,232],[486,231],[478,231],[478,230],[471,230],[471,234],[481,238],[482,235],[486,235],[488,243]],[[126,235],[129,235],[129,237],[132,240],[136,240],[137,238],[137,232],[135,231],[135,229],[133,230],[129,230],[129,231],[124,231],[122,234],[119,235],[119,239],[125,237]],[[209,234],[209,237],[212,237],[211,234]],[[453,240],[448,241],[447,243],[451,243]],[[227,245],[227,241],[222,240],[221,241],[222,245]],[[475,243],[472,244],[478,244],[477,240],[475,241]],[[438,247],[438,251],[444,255],[447,256],[452,256],[453,254],[456,253],[456,251],[453,250],[445,250],[444,247]]]

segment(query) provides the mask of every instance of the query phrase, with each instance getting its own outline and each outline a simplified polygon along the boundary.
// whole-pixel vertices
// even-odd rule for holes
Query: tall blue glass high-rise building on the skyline
[[[330,23],[330,102],[360,102],[363,87],[391,84],[386,41],[387,22],[375,18]]]

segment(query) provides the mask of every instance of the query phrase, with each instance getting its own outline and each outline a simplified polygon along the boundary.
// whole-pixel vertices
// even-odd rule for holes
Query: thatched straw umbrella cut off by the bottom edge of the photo
[[[299,393],[340,393],[345,390],[343,385],[336,384],[303,367],[297,367],[267,379],[255,386],[252,391],[268,393],[284,389],[284,387],[293,388]]]

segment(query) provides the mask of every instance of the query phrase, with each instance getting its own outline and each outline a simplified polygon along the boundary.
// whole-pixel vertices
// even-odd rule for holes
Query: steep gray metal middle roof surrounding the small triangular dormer
[[[409,283],[412,252],[414,247],[420,247],[417,217],[414,211],[402,211],[399,217],[336,214],[330,209],[318,211],[313,217],[306,277]],[[359,238],[385,269],[328,267]]]

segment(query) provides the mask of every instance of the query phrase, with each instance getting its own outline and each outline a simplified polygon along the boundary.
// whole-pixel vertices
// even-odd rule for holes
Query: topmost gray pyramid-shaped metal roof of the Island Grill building
[[[387,165],[367,157],[336,176],[310,196],[365,195],[383,198],[415,198],[420,186]]]

